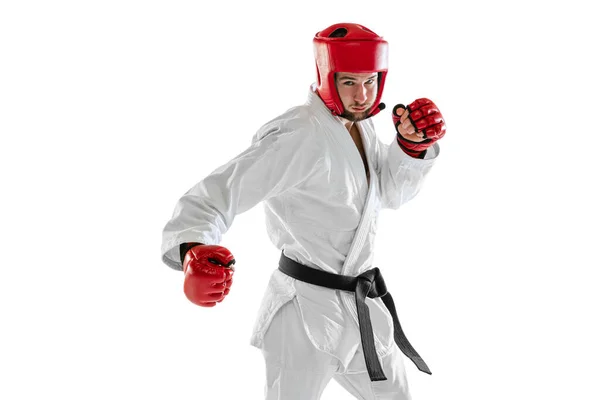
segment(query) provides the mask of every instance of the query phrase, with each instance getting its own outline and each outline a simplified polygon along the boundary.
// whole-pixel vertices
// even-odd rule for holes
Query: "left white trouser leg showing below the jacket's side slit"
[[[306,335],[296,299],[277,311],[262,348],[267,400],[318,400],[338,361],[317,350]]]

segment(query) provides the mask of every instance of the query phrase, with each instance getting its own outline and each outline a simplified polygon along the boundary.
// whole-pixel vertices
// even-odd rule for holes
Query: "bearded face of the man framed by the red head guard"
[[[338,72],[335,74],[335,86],[344,105],[341,116],[349,121],[365,119],[377,97],[377,72]]]

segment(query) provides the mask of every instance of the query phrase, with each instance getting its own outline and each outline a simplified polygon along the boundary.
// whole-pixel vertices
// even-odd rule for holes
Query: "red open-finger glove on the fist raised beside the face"
[[[398,145],[406,154],[423,158],[427,148],[446,133],[446,122],[440,110],[429,99],[413,101],[408,106],[408,115],[402,117],[405,109],[404,105],[397,104],[392,111]]]

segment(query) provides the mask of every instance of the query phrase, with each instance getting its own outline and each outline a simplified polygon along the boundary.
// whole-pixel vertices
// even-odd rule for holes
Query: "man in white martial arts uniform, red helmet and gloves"
[[[343,23],[317,33],[314,46],[318,82],[307,103],[266,123],[179,200],[163,261],[183,269],[189,300],[215,306],[235,263],[222,234],[264,202],[282,252],[251,339],[265,357],[266,398],[319,399],[334,378],[359,399],[409,399],[401,351],[430,372],[402,333],[373,245],[379,210],[417,194],[445,122],[430,100],[397,105],[397,135],[382,143],[370,117],[384,108],[387,42]]]

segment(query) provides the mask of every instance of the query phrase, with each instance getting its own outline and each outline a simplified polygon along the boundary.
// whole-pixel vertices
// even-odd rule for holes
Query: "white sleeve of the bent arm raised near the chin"
[[[427,149],[424,159],[413,158],[402,151],[395,137],[390,145],[376,138],[375,146],[382,207],[398,209],[421,190],[425,176],[439,155],[439,145],[434,143]]]

